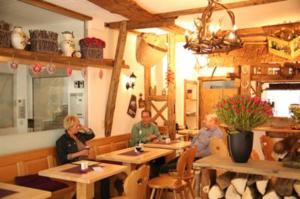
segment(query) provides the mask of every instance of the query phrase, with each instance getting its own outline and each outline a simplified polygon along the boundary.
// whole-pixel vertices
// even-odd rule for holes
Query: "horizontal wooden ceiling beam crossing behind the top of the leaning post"
[[[167,18],[155,21],[128,21],[127,30],[143,29],[143,28],[156,28],[156,27],[168,27],[175,23],[175,18]],[[120,27],[120,22],[106,23],[106,27],[116,29]]]

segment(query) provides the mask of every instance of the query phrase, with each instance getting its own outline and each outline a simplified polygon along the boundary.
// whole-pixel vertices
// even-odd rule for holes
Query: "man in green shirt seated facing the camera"
[[[139,143],[155,143],[161,140],[157,126],[151,122],[151,112],[143,110],[141,117],[142,121],[132,127],[129,146],[135,146]]]

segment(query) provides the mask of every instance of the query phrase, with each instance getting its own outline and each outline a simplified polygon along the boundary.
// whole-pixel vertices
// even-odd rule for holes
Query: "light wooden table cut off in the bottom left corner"
[[[15,191],[17,193],[13,193],[11,195],[7,195],[5,197],[2,197],[3,199],[44,199],[44,198],[50,198],[51,192],[49,191],[43,191],[40,189],[32,189],[28,187],[18,186],[14,184],[8,184],[0,182],[0,189],[6,189],[9,191]]]

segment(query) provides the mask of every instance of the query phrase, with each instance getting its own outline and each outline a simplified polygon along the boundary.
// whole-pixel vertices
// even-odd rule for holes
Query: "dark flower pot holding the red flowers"
[[[240,131],[227,136],[228,150],[234,162],[245,163],[248,161],[253,146],[253,132]]]

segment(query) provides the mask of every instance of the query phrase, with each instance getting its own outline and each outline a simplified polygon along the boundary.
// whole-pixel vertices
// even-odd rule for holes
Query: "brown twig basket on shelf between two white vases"
[[[58,34],[46,30],[30,30],[31,51],[58,52]]]

